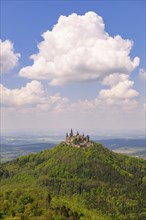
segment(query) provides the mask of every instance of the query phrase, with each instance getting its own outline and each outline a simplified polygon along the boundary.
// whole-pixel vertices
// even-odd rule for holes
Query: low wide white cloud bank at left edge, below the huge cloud
[[[8,89],[0,85],[2,107],[12,108],[39,108],[42,110],[60,110],[67,98],[60,94],[49,95],[43,88],[41,82],[33,80],[20,89]]]

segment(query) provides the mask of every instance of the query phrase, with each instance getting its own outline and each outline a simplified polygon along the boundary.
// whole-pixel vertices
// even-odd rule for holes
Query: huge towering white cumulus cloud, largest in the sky
[[[131,40],[109,36],[102,17],[94,12],[60,16],[52,30],[42,35],[39,52],[31,56],[32,66],[19,75],[46,79],[51,85],[78,81],[103,81],[112,74],[129,75],[139,58],[130,58]]]

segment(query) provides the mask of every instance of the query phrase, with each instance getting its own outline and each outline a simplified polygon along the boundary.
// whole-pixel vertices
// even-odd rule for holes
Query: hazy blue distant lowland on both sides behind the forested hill
[[[98,138],[98,140],[97,140]],[[103,137],[102,137],[103,138]],[[100,139],[94,135],[92,139],[110,150],[129,156],[146,158],[146,139],[144,138],[110,138]],[[2,136],[0,143],[1,163],[11,161],[19,156],[37,153],[55,147],[64,140],[63,135],[48,136]]]

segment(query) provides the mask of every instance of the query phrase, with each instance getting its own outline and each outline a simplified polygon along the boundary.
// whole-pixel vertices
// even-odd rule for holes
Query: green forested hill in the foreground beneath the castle
[[[146,161],[101,144],[53,149],[1,165],[6,220],[143,220]]]

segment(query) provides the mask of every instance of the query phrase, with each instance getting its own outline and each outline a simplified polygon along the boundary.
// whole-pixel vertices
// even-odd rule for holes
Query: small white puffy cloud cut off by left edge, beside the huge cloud
[[[0,40],[0,72],[7,73],[17,66],[20,54],[14,52],[13,43]]]

